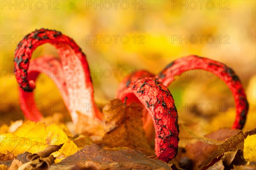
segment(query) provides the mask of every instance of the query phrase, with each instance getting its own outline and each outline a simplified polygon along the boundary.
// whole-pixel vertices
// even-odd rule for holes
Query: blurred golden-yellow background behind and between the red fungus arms
[[[14,51],[23,35],[43,27],[72,37],[87,55],[90,69],[102,69],[102,76],[92,75],[97,103],[104,104],[115,97],[124,69],[146,69],[156,74],[171,61],[191,54],[225,63],[239,75],[246,90],[250,110],[244,130],[250,130],[256,127],[255,6],[253,0],[1,0],[0,123],[23,118],[18,85],[12,74]],[[43,54],[58,56],[52,46],[43,45],[32,58]],[[110,77],[104,76],[107,69],[119,71],[116,76],[114,72]],[[204,71],[196,73],[183,74],[169,86],[179,121],[202,134],[231,127],[236,111],[228,87]],[[59,111],[70,120],[47,75],[38,79],[35,95],[37,103],[44,106],[44,115]],[[204,103],[202,109],[200,103]],[[58,104],[57,109],[52,107],[54,104]],[[214,109],[205,107],[207,104]]]

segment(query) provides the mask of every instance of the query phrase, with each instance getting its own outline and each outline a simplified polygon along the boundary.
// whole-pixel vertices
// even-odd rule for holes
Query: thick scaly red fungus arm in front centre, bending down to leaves
[[[177,154],[179,125],[171,92],[156,78],[131,82],[119,95],[127,104],[137,101],[149,112],[155,129],[155,151],[158,158],[170,161]]]

